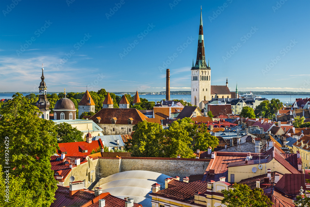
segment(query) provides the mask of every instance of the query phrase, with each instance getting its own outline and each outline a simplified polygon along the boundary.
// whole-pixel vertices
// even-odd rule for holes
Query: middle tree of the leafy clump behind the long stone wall
[[[179,119],[169,124],[169,128],[164,130],[164,156],[177,157],[181,155],[182,158],[194,158],[192,142],[193,138],[190,136],[191,123],[186,119]]]

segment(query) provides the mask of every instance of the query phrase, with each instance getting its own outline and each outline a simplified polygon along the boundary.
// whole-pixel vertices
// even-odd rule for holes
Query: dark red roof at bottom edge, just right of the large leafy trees
[[[56,200],[51,204],[51,207],[81,206],[95,197],[93,193],[85,192],[83,190],[79,190],[71,197],[69,196],[69,187],[63,187],[60,185],[57,185],[57,187],[58,188],[55,192]]]

